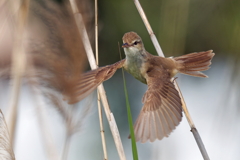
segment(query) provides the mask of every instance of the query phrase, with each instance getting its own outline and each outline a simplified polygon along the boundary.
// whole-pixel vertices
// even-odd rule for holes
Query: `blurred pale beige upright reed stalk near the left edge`
[[[16,5],[13,4],[11,5]],[[22,77],[25,72],[26,66],[26,53],[23,48],[23,35],[25,32],[25,26],[28,16],[29,0],[20,0],[17,13],[17,28],[14,33],[14,47],[12,54],[12,66],[11,66],[11,95],[10,95],[10,105],[7,114],[7,123],[9,126],[10,141],[14,144],[15,138],[15,128],[17,122],[17,110],[18,110],[18,100],[20,95]]]

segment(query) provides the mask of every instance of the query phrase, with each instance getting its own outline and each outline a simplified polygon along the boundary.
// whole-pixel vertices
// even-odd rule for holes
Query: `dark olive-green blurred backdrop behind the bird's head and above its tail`
[[[166,56],[213,49],[216,57],[240,58],[239,0],[140,2]],[[119,60],[117,43],[128,31],[137,32],[156,54],[133,1],[100,1],[99,20],[100,66]]]

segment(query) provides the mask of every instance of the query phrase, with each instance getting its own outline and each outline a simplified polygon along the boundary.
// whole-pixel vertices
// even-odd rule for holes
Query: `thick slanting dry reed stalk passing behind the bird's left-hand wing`
[[[87,35],[87,31],[86,31],[84,23],[83,23],[82,15],[78,11],[75,0],[70,0],[70,4],[72,7],[72,11],[74,14],[76,24],[78,26],[78,31],[79,31],[80,37],[83,41],[83,45],[84,45],[84,48],[87,53],[87,57],[88,57],[90,66],[92,69],[96,69],[97,68],[96,60],[94,58],[94,54],[93,54],[91,44],[90,44],[90,41],[89,41],[89,38]],[[121,160],[125,160],[126,157],[125,157],[125,153],[123,150],[123,145],[122,145],[120,134],[119,134],[119,131],[117,128],[117,124],[116,124],[114,116],[110,110],[110,107],[109,107],[109,104],[107,101],[107,97],[106,97],[106,93],[105,93],[105,90],[104,90],[104,87],[102,84],[98,86],[98,91],[101,96],[102,104],[104,106],[104,110],[105,110],[105,113],[106,113],[106,116],[107,116],[107,119],[109,122],[110,130],[113,135],[113,139],[114,139],[117,151],[118,151],[119,158]]]

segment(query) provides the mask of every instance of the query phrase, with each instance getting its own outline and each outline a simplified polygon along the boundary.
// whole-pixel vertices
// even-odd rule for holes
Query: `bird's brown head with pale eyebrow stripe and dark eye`
[[[144,50],[142,39],[137,33],[127,32],[122,39],[125,54],[137,54]]]

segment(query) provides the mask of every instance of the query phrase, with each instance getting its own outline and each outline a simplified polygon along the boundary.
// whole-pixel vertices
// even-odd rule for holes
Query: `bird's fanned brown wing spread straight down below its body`
[[[155,67],[147,73],[146,80],[144,106],[134,126],[136,141],[142,143],[167,137],[182,119],[181,99],[168,72]]]

